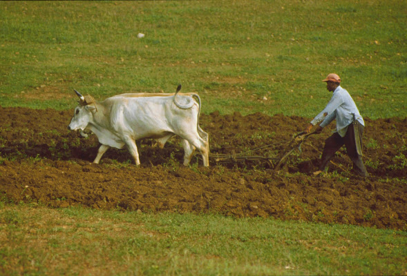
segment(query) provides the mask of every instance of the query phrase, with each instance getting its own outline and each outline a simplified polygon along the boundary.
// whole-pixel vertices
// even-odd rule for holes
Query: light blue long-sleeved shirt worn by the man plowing
[[[348,126],[352,124],[354,119],[357,119],[362,126],[365,126],[365,122],[352,97],[350,97],[348,91],[341,88],[341,86],[338,86],[337,89],[334,90],[327,106],[319,115],[316,115],[311,121],[311,124],[315,126],[322,121],[319,126],[325,128],[325,126],[328,126],[334,119],[337,119],[337,132],[341,137],[346,135]]]

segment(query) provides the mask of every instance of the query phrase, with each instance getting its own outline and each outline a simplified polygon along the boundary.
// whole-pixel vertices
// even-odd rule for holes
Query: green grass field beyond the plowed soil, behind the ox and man
[[[73,108],[73,88],[198,92],[203,112],[313,117],[337,72],[361,114],[406,117],[405,1],[0,3],[0,104]],[[143,39],[138,39],[141,32]]]

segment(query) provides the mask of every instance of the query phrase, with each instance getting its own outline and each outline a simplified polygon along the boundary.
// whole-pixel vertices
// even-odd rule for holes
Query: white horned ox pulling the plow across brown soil
[[[91,96],[79,97],[69,130],[91,130],[102,144],[93,163],[98,164],[108,148],[127,146],[135,164],[140,165],[135,141],[153,138],[160,148],[173,137],[182,139],[184,165],[187,166],[196,148],[204,166],[209,166],[209,135],[199,126],[200,97],[196,93],[122,94],[97,102]],[[197,99],[198,101],[194,100]]]

